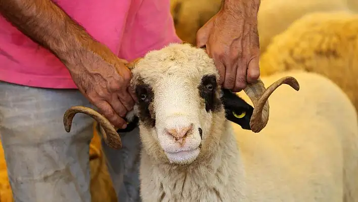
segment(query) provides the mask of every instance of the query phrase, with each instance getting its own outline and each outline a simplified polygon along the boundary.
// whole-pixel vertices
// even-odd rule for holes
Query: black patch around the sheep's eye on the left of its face
[[[138,116],[147,127],[155,126],[155,114],[153,110],[154,93],[152,87],[139,80],[136,86],[136,96],[138,98]]]

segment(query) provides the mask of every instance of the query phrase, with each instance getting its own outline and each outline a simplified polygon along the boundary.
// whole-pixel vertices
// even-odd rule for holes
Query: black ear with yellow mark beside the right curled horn
[[[225,108],[225,116],[241,128],[251,130],[250,119],[253,107],[230,90],[221,88],[221,101]]]

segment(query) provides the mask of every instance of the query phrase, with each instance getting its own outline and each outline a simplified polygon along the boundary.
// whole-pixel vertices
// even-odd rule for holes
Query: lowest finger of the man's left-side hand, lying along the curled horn
[[[127,124],[123,118],[115,113],[111,105],[104,100],[98,101],[95,103],[99,111],[113,124],[113,126],[121,129],[125,129]]]

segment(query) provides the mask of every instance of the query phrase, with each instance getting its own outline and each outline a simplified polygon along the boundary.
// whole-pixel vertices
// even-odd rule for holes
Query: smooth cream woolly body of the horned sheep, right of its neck
[[[287,71],[263,76],[262,81],[270,85],[285,75],[297,78],[300,91],[283,86],[270,96],[270,122],[259,134],[232,124],[250,168],[247,175],[256,174],[253,181],[264,187],[253,194],[271,195],[279,189],[298,191],[280,201],[358,201],[358,132],[351,102],[316,73]],[[250,103],[245,94],[239,95]],[[275,183],[278,179],[282,184]],[[300,198],[305,192],[318,196]],[[334,196],[327,197],[330,194]]]

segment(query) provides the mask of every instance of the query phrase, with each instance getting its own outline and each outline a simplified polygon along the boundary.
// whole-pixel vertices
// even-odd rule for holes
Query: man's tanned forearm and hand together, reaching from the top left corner
[[[51,0],[0,0],[0,13],[54,53],[81,93],[114,126],[126,127],[121,117],[133,107],[135,96],[128,90],[131,74],[125,61],[92,38]]]

